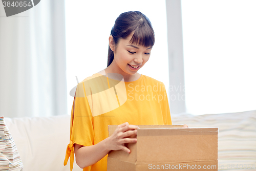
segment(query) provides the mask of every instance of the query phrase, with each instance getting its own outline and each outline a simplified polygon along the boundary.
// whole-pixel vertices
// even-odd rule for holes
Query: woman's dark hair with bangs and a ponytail
[[[129,11],[121,13],[115,21],[115,25],[111,30],[115,49],[120,38],[125,39],[134,32],[131,44],[144,47],[152,47],[155,44],[155,33],[152,28],[150,19],[139,11]],[[114,53],[109,46],[108,66],[114,59]]]

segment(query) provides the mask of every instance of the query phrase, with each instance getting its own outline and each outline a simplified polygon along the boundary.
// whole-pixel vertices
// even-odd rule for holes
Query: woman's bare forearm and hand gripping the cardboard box
[[[129,125],[128,122],[117,126],[115,132],[108,138],[91,146],[74,144],[76,163],[80,168],[88,167],[101,160],[111,150],[122,149],[131,153],[130,149],[124,146],[124,143],[135,143],[136,138],[126,138],[137,135],[138,126]]]

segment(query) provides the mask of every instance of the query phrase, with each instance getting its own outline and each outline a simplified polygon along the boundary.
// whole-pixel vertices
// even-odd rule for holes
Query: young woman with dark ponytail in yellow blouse
[[[83,170],[106,170],[108,153],[136,143],[141,124],[172,124],[164,84],[138,73],[155,43],[150,20],[139,11],[119,15],[109,37],[108,67],[77,86],[71,112],[71,157]],[[152,66],[152,68],[159,65]],[[121,77],[120,77],[121,76]],[[118,125],[112,136],[108,125]]]

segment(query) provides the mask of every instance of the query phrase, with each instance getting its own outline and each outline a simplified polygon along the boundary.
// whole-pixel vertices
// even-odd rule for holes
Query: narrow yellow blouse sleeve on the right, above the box
[[[163,86],[163,103],[162,103],[162,114],[164,119],[164,124],[172,125],[172,119],[170,118],[170,109],[169,109],[169,102],[167,98],[167,93],[165,90],[164,83],[161,82]]]

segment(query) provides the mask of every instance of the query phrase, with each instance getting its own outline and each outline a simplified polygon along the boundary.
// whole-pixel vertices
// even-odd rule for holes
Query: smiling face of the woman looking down
[[[110,48],[114,51],[114,60],[112,63],[116,73],[122,75],[136,74],[150,58],[152,47],[145,48],[129,43],[132,35],[126,39],[120,38],[116,49],[113,46],[113,37],[110,37]]]

